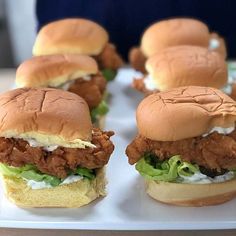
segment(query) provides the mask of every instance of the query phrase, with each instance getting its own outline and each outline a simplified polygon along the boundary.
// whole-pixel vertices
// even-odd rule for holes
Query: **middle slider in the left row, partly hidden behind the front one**
[[[17,68],[15,82],[18,88],[50,87],[73,92],[87,102],[93,123],[104,126],[109,110],[107,81],[92,57],[77,54],[33,57]]]

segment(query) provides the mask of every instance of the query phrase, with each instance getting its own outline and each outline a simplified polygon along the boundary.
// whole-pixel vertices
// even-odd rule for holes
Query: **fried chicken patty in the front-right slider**
[[[159,160],[180,155],[182,160],[209,170],[236,168],[236,130],[228,135],[213,132],[205,137],[179,141],[153,141],[138,135],[128,145],[126,154],[130,164],[139,161],[145,153],[153,153]]]

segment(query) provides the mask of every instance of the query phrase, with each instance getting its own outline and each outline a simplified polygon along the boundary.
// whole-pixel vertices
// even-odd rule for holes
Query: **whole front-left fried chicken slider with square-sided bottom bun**
[[[80,207],[105,196],[112,131],[93,128],[87,103],[51,88],[0,95],[0,173],[20,207]]]

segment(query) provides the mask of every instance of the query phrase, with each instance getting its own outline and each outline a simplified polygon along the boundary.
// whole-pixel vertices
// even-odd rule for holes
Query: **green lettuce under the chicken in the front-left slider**
[[[23,167],[11,167],[0,163],[0,172],[6,176],[14,176],[17,178],[24,178],[27,180],[34,180],[36,182],[44,181],[47,184],[55,187],[63,182],[63,179],[59,179],[55,176],[43,174],[39,170],[36,169],[33,165],[25,165]],[[77,174],[83,176],[84,178],[88,178],[92,180],[96,177],[94,170],[89,170],[87,168],[78,167],[71,174]]]

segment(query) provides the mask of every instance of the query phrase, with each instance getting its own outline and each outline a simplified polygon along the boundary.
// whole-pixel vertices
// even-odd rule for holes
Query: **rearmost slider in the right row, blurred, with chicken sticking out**
[[[161,50],[181,45],[205,47],[218,52],[226,58],[224,39],[216,33],[210,33],[208,26],[197,19],[173,18],[161,20],[149,26],[143,33],[140,47],[130,50],[129,61],[131,66],[146,73],[145,62]]]

